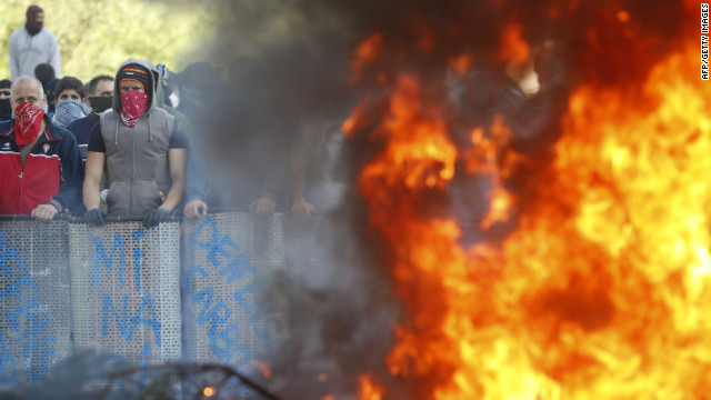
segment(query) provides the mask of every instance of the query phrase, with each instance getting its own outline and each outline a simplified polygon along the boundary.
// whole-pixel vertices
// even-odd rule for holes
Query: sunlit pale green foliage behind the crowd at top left
[[[61,51],[61,74],[82,81],[113,76],[129,57],[163,62],[180,71],[179,57],[204,40],[210,20],[198,8],[174,7],[167,1],[54,0],[38,2],[44,26],[54,33]],[[8,41],[24,24],[27,1],[3,0],[0,16],[0,79],[10,77]]]

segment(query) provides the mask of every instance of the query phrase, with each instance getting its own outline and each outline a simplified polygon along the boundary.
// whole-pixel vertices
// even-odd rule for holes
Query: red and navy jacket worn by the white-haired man
[[[83,167],[74,137],[44,118],[47,129],[33,144],[24,168],[12,121],[0,122],[0,214],[28,214],[52,202],[62,211],[81,203]]]

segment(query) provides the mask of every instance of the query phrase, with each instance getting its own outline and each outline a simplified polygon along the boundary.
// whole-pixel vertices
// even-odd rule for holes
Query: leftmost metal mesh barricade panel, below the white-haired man
[[[0,388],[38,383],[69,353],[66,222],[0,221]]]

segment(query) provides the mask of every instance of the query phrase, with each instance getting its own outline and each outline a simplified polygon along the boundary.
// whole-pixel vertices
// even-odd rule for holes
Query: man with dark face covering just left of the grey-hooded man
[[[108,74],[93,77],[87,83],[87,103],[91,107],[91,113],[79,118],[67,126],[67,129],[74,134],[79,143],[81,160],[87,161],[87,146],[89,136],[94,123],[99,122],[99,117],[103,111],[111,108],[113,101],[113,78]]]

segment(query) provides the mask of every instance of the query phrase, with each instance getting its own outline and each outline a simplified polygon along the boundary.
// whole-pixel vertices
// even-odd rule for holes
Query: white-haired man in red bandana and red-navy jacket
[[[44,116],[40,81],[20,77],[10,92],[14,118],[0,122],[0,214],[50,221],[81,203],[79,147]]]

